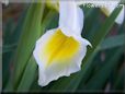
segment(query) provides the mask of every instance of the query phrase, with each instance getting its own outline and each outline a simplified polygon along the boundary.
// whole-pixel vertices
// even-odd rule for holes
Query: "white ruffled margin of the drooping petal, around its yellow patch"
[[[56,33],[57,30],[58,28],[50,30],[47,33],[45,33],[37,40],[36,47],[34,49],[34,57],[38,64],[38,84],[41,86],[45,86],[52,81],[59,79],[60,77],[69,77],[71,73],[79,71],[82,59],[84,58],[87,52],[87,45],[90,45],[90,43],[87,39],[80,36],[76,36],[78,43],[80,44],[78,51],[69,59],[64,59],[64,60],[56,59],[53,60],[52,64],[46,67],[46,58],[44,57],[44,54],[41,51],[44,51],[44,49],[46,49],[44,48],[45,47],[44,45],[47,44],[49,38]]]

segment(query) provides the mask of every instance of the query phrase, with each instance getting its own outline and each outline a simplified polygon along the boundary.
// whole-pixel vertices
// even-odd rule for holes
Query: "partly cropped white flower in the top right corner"
[[[124,9],[124,5],[123,5],[123,4],[118,4],[120,1],[121,1],[121,0],[115,0],[115,1],[113,1],[113,0],[109,0],[109,1],[104,1],[104,0],[102,0],[102,1],[96,1],[96,0],[95,0],[95,1],[94,1],[94,0],[92,0],[92,1],[87,1],[87,0],[82,1],[82,0],[81,0],[81,1],[79,1],[79,0],[78,0],[78,1],[77,1],[77,4],[80,5],[80,4],[92,3],[92,4],[93,4],[92,7],[98,7],[98,8],[100,8],[100,9],[103,11],[103,13],[104,13],[105,15],[107,15],[107,16],[111,15],[111,13],[114,11],[115,8],[122,5],[123,9],[122,9],[122,11],[120,12],[120,14],[117,15],[117,17],[115,19],[115,22],[116,22],[117,24],[122,24],[123,21],[124,21],[125,9]]]

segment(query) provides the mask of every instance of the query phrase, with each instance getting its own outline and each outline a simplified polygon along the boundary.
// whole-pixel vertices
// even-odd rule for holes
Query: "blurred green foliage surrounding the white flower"
[[[109,17],[98,8],[81,8],[84,12],[82,37],[93,47],[88,48],[81,71],[45,87],[37,84],[37,64],[32,52],[36,39],[46,30],[58,26],[58,13],[44,4],[32,3],[19,16],[14,27],[13,19],[9,19],[3,27],[3,92],[124,91],[125,21],[122,25],[114,22],[121,8]],[[116,34],[112,35],[112,32]]]

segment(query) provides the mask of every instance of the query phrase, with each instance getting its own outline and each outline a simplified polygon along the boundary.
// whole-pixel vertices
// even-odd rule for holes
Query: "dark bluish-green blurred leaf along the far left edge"
[[[2,58],[3,58],[3,89],[7,86],[8,81],[10,80],[10,70],[11,66],[13,64],[13,56],[18,46],[19,37],[22,31],[22,26],[24,23],[24,17],[27,10],[24,10],[23,13],[19,16],[16,24],[14,20],[10,19],[9,22],[5,24],[5,28],[3,30],[3,46],[2,46]],[[10,25],[9,25],[10,24]],[[9,70],[7,70],[9,69]]]

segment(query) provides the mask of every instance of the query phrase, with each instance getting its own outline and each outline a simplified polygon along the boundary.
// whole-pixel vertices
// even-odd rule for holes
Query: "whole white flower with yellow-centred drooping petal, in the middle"
[[[87,46],[81,37],[83,12],[75,1],[59,2],[59,26],[47,31],[37,42],[33,55],[38,64],[38,84],[47,85],[60,77],[80,70]]]

